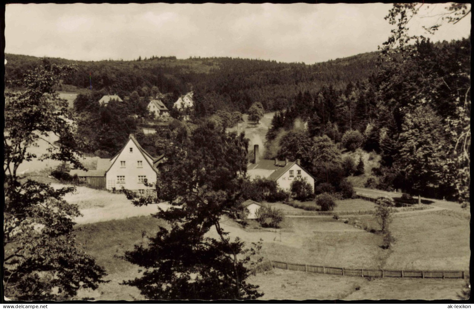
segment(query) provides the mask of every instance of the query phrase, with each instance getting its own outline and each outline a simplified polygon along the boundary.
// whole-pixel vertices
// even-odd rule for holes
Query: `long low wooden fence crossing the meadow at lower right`
[[[308,273],[343,275],[375,278],[436,278],[436,279],[464,279],[462,270],[389,270],[389,269],[353,269],[344,267],[315,266],[288,262],[270,261],[274,268],[303,271]]]

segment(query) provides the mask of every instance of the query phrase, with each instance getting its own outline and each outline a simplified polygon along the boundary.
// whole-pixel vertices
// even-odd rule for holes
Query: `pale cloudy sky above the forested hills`
[[[436,15],[429,8],[424,16]],[[5,52],[73,60],[228,56],[307,64],[377,50],[390,4],[8,4]],[[418,18],[412,28],[433,21]],[[435,40],[467,37],[470,16]]]

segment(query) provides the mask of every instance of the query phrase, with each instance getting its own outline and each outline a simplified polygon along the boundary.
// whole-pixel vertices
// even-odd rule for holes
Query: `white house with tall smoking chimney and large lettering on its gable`
[[[301,167],[300,159],[296,161],[279,161],[261,159],[258,145],[254,146],[254,160],[247,164],[247,175],[250,180],[260,176],[261,178],[276,181],[281,189],[291,190],[293,180],[304,179],[313,189],[315,178]]]

